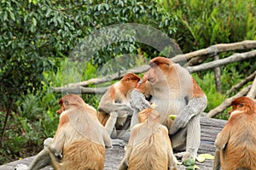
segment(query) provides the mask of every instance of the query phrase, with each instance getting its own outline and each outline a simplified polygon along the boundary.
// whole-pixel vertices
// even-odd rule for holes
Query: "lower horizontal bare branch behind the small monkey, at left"
[[[105,94],[109,87],[106,88],[83,88],[83,87],[73,87],[73,88],[53,88],[56,93],[69,93],[69,94]]]

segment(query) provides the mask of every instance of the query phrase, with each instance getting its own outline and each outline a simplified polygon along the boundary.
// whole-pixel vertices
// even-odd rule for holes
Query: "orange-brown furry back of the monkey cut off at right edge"
[[[220,153],[222,169],[255,169],[256,167],[256,114],[239,116],[230,131],[230,139]]]

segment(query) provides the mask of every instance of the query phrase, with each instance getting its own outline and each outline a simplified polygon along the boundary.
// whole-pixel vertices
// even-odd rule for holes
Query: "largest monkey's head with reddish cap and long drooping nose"
[[[165,57],[155,57],[151,59],[148,63],[150,69],[146,72],[143,77],[143,82],[147,80],[149,82],[160,82],[161,79],[165,81],[165,75],[168,75],[172,70],[172,61]]]

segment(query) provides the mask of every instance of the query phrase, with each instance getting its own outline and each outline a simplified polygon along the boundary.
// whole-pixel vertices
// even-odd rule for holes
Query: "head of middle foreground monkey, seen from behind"
[[[140,111],[138,113],[139,122],[158,122],[160,118],[160,113],[154,109],[148,108]]]

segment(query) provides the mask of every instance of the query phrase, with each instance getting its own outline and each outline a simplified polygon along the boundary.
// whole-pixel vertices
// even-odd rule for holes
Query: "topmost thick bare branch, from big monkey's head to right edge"
[[[197,50],[195,52],[191,52],[189,54],[179,54],[172,58],[173,62],[181,62],[184,60],[189,60],[198,56],[213,56],[219,53],[227,52],[227,51],[235,51],[241,49],[250,49],[256,48],[256,41],[243,41],[243,42],[235,42],[235,43],[220,43],[216,45],[212,45],[209,48],[204,48]]]

